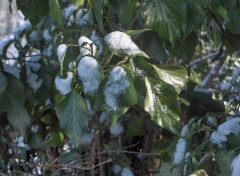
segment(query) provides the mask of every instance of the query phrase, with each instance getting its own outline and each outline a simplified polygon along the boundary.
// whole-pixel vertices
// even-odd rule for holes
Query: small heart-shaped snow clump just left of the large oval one
[[[56,76],[55,78],[55,86],[56,89],[62,94],[66,95],[72,90],[72,79],[73,79],[73,73],[68,72],[67,77],[65,79],[60,78],[59,76]]]

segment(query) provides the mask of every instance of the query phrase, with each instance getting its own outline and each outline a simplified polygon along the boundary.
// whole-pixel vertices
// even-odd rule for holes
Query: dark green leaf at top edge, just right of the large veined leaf
[[[197,27],[204,19],[205,11],[203,3],[199,0],[186,0],[187,16],[183,23],[184,38],[187,37],[195,27]]]

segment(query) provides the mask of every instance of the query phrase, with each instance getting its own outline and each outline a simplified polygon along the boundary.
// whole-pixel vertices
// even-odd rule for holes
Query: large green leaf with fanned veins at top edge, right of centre
[[[185,0],[151,0],[144,11],[147,27],[175,43],[186,19]]]

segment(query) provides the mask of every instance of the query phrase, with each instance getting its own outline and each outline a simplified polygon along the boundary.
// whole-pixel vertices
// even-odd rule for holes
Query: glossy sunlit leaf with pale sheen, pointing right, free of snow
[[[160,79],[171,84],[178,93],[187,88],[188,73],[184,67],[170,65],[157,67],[153,65],[153,68]]]

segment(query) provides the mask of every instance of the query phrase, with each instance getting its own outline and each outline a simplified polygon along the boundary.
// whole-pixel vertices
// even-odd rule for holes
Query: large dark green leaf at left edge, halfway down
[[[4,72],[8,85],[5,92],[0,96],[0,112],[12,112],[21,109],[25,102],[24,86],[13,75]]]

